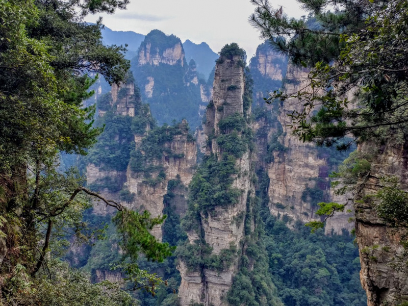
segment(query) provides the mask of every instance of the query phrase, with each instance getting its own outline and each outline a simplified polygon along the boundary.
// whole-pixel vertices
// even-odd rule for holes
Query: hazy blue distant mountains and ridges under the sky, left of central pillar
[[[104,44],[128,45],[125,58],[131,60],[131,70],[141,88],[144,103],[150,104],[152,114],[160,124],[172,124],[173,120],[185,118],[192,130],[200,125],[203,110],[211,98],[215,60],[218,58],[206,43],[197,45],[187,40],[181,44],[179,38],[159,30],[144,36],[105,27],[101,33]],[[147,52],[146,45],[151,43],[153,46],[149,46]],[[91,89],[95,94],[87,101],[89,105],[108,93],[111,87],[100,77]]]

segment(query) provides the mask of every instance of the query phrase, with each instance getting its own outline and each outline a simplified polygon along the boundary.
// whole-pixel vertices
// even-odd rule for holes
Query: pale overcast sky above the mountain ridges
[[[290,17],[305,13],[296,0],[270,0],[284,6]],[[237,42],[250,58],[261,43],[259,33],[248,23],[254,6],[249,0],[131,0],[127,10],[102,15],[103,23],[115,31],[134,31],[146,35],[159,29],[174,34],[184,42],[205,41],[218,52],[226,43]],[[94,22],[96,16],[88,16]]]

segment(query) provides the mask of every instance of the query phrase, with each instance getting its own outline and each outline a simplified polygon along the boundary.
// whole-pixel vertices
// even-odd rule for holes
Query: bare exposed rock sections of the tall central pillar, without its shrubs
[[[218,123],[221,119],[234,113],[243,115],[244,69],[237,65],[240,60],[242,60],[240,56],[234,56],[233,59],[223,58],[221,63],[216,65],[213,101],[207,108],[204,139],[208,139],[210,135],[214,138],[220,135]],[[202,138],[202,135],[200,137]],[[205,142],[207,141],[200,140],[201,144]],[[222,150],[215,139],[207,145],[205,152],[207,155],[216,154],[219,158],[222,156]],[[248,191],[253,188],[250,181],[250,152],[246,152],[242,158],[237,159],[236,167],[241,175],[235,178],[232,187],[242,190],[238,202],[227,207],[216,206],[210,213],[201,213],[202,237],[212,248],[212,254],[218,254],[232,245],[239,246],[244,237],[244,222],[239,223],[234,220],[245,214]],[[190,243],[194,243],[199,237],[195,231],[189,231],[188,239]],[[177,268],[182,276],[179,289],[181,305],[187,306],[191,301],[203,303],[206,306],[227,305],[225,296],[233,284],[233,276],[238,269],[237,260],[222,271],[207,268],[191,271],[182,261]]]

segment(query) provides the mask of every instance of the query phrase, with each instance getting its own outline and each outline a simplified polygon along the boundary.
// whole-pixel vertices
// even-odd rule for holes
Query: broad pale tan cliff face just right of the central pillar
[[[288,93],[297,92],[307,84],[308,71],[304,68],[288,65],[284,90]],[[277,119],[281,123],[282,131],[278,132],[275,149],[271,152],[268,165],[270,178],[269,208],[278,218],[284,217],[291,226],[294,221],[309,222],[319,220],[315,215],[317,203],[334,200],[335,195],[330,190],[328,174],[335,170],[331,164],[333,152],[324,151],[313,144],[303,143],[290,129],[293,111],[301,111],[303,104],[296,99],[282,103]],[[344,157],[343,157],[344,159]],[[339,161],[341,162],[341,161]],[[340,203],[342,197],[336,197]],[[285,217],[286,216],[286,217]],[[339,213],[327,222],[326,234],[342,234],[342,229],[350,231],[353,227],[348,219],[350,213]]]

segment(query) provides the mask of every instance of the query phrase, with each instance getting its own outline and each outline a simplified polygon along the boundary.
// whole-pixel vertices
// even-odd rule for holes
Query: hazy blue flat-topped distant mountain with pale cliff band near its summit
[[[199,125],[198,108],[208,103],[203,100],[209,93],[201,94],[196,63],[187,62],[180,38],[151,31],[131,65],[143,100],[160,124],[185,118],[193,129]]]

